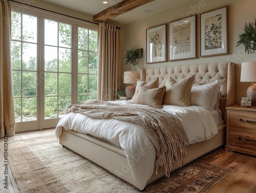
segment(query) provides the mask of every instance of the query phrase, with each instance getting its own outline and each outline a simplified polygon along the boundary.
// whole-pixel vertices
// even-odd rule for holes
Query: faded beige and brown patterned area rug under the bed
[[[62,147],[55,136],[8,143],[8,160],[20,192],[141,192],[93,162]],[[146,186],[143,192],[207,192],[228,170],[195,160]]]

